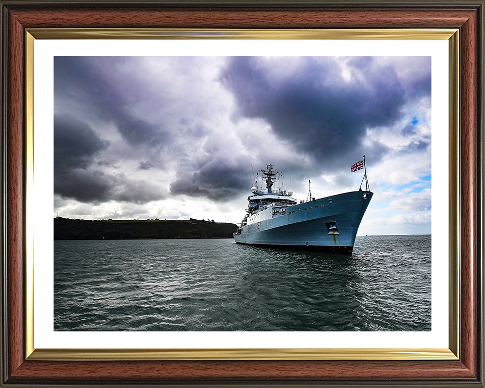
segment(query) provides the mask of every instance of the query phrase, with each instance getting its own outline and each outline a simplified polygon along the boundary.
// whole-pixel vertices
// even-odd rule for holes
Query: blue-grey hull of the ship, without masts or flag
[[[370,191],[351,191],[293,206],[285,214],[269,207],[251,215],[234,233],[239,244],[351,253],[362,217],[372,199]]]

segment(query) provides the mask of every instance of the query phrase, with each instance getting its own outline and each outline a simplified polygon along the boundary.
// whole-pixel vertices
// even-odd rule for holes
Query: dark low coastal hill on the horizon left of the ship
[[[236,224],[190,220],[73,220],[54,218],[55,240],[232,238]]]

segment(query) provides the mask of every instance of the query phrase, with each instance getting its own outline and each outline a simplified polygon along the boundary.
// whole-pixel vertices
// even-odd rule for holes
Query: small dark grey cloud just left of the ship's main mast
[[[233,161],[214,158],[192,174],[179,174],[170,184],[170,192],[211,200],[234,199],[252,186],[250,166],[251,161],[244,157]]]

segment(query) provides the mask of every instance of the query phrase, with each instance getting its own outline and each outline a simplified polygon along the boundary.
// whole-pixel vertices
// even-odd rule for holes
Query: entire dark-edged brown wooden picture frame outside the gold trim
[[[2,8],[2,376],[3,386],[484,386],[483,344],[483,12],[481,1],[129,2],[0,1]],[[459,106],[456,249],[459,357],[397,360],[156,360],[81,355],[30,357],[26,329],[29,163],[25,66],[28,30],[98,29],[457,29]],[[453,104],[453,102],[452,102]],[[453,146],[453,144],[452,144]],[[453,213],[453,212],[452,212]],[[452,215],[453,217],[453,215]],[[458,294],[459,290],[459,294]],[[453,326],[453,325],[452,325]],[[456,338],[455,338],[456,336]],[[92,354],[91,354],[92,356]],[[340,358],[339,358],[340,357]],[[68,357],[67,357],[68,358]],[[277,357],[275,357],[277,358]],[[425,357],[424,357],[425,358]]]

